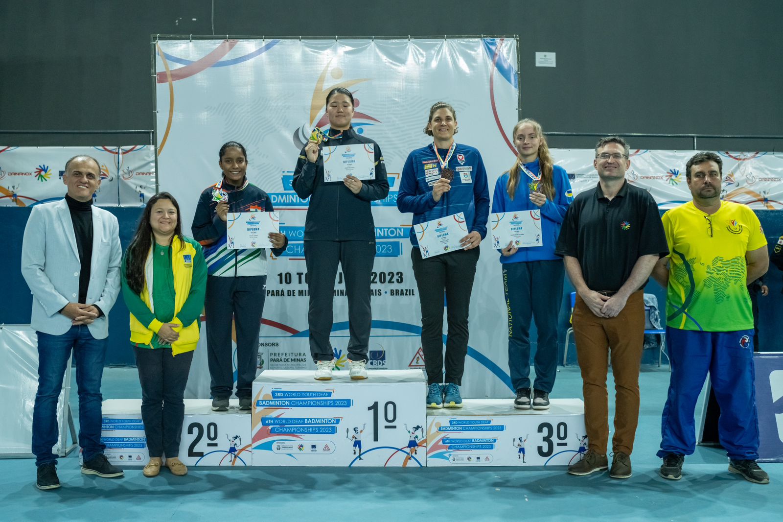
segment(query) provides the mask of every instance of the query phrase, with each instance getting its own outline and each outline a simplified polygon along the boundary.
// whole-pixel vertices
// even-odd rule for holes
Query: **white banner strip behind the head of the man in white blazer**
[[[93,196],[102,207],[143,205],[155,194],[152,147],[2,147],[0,205],[27,207],[63,198],[65,163],[78,154],[100,164],[100,187]]]

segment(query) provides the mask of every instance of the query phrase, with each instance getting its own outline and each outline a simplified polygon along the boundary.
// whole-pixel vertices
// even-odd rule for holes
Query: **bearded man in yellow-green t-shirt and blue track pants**
[[[747,285],[767,272],[767,240],[746,205],[720,200],[723,161],[700,152],[687,161],[693,201],[663,215],[669,256],[652,276],[666,288],[666,345],[672,375],[663,408],[662,477],[682,477],[695,449],[694,408],[709,372],[720,404],[718,430],[729,471],[768,484],[756,464],[759,428],[753,382],[753,314]]]

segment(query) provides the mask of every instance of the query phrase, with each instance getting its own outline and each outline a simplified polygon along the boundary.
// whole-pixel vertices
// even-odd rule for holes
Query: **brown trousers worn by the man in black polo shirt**
[[[579,295],[572,317],[576,356],[582,370],[585,430],[589,448],[606,453],[609,404],[608,357],[615,377],[615,435],[612,451],[633,451],[639,422],[639,366],[644,348],[644,292],[633,292],[617,317],[597,317]],[[611,346],[611,350],[610,350]]]

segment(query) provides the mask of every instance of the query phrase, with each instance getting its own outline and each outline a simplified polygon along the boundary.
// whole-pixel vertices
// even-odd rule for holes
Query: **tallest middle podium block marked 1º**
[[[253,466],[425,466],[421,370],[266,370],[253,382]]]

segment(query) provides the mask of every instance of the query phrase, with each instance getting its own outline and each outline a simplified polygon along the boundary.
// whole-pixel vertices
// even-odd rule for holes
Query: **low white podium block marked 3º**
[[[548,410],[466,399],[427,410],[427,466],[568,466],[587,448],[584,403],[552,399]]]

